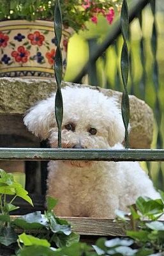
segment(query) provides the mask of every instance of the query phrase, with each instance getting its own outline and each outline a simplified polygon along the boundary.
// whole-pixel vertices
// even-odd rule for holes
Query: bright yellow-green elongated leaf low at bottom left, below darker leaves
[[[50,247],[50,243],[48,243],[46,239],[39,239],[38,237],[29,236],[25,233],[19,236],[19,241],[20,243],[24,243],[25,246],[41,245],[45,247]]]

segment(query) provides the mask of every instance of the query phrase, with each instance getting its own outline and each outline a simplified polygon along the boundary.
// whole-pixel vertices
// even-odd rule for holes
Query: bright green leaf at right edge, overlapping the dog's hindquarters
[[[163,212],[163,202],[161,199],[153,200],[147,196],[140,196],[136,201],[138,211],[144,216]]]

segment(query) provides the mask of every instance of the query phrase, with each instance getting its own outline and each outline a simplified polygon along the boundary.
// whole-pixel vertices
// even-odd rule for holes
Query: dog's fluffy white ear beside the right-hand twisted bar
[[[124,140],[125,129],[121,109],[115,98],[108,99],[108,143],[113,147]]]

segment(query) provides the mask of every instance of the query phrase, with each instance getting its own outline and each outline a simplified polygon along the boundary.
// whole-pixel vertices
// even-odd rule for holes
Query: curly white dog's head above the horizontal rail
[[[89,88],[62,90],[63,148],[110,148],[124,139],[124,125],[116,99]],[[57,147],[55,95],[34,106],[24,118],[29,131]]]

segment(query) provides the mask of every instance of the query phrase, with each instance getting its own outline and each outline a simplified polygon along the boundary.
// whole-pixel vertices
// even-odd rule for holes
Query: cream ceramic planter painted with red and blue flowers
[[[54,78],[54,22],[6,20],[0,24],[0,77]],[[63,29],[63,76],[68,39],[72,34],[73,29]]]

